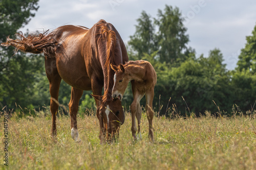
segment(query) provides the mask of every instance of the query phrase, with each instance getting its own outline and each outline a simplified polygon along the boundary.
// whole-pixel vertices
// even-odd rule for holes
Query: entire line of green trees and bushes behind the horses
[[[38,0],[0,3],[0,41],[25,26],[39,8]],[[15,9],[15,10],[14,10]],[[156,18],[145,11],[137,19],[127,52],[130,60],[147,60],[158,80],[154,109],[159,115],[251,114],[256,94],[256,27],[241,50],[237,67],[228,70],[218,48],[208,56],[196,57],[188,46],[189,35],[177,7],[166,5]],[[15,55],[14,55],[15,53]],[[49,83],[42,55],[14,52],[0,47],[0,108],[38,110],[50,105]],[[71,87],[61,82],[59,102],[68,105]],[[80,112],[94,106],[90,91],[84,91]],[[126,110],[133,101],[131,86],[122,104]],[[145,100],[141,101],[145,105]]]

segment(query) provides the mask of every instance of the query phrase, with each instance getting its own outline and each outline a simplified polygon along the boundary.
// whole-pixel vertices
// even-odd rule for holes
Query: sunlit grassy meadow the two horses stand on
[[[256,119],[250,117],[154,117],[151,143],[145,113],[142,140],[137,142],[126,113],[119,141],[108,145],[99,143],[94,115],[78,116],[81,143],[71,138],[70,118],[59,116],[55,143],[49,113],[23,118],[18,114],[8,119],[8,166],[1,161],[2,169],[256,169]],[[4,116],[1,123],[4,140]]]

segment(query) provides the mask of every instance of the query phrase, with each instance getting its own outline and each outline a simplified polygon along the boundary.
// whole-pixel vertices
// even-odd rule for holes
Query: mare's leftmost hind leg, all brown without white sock
[[[45,67],[46,67],[46,75],[50,84],[50,95],[51,95],[51,103],[50,110],[52,113],[52,137],[55,138],[57,135],[56,130],[56,114],[58,111],[58,95],[59,95],[59,84],[61,82],[61,78],[58,74],[58,70],[56,68],[56,60],[55,58],[45,58]]]

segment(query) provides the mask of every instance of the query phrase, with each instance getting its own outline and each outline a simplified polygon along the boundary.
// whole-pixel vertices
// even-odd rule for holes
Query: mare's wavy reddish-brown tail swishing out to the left
[[[44,52],[44,49],[50,47],[51,50],[55,48],[55,44],[57,43],[54,38],[53,33],[49,33],[45,31],[39,35],[28,35],[25,37],[22,32],[17,33],[16,36],[19,36],[20,39],[13,40],[10,36],[7,37],[7,41],[5,43],[1,43],[2,46],[14,46],[16,51],[21,50],[24,52],[39,54]]]

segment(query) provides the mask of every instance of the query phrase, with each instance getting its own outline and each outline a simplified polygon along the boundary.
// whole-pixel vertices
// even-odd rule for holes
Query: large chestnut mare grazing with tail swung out
[[[69,103],[71,136],[80,141],[77,129],[77,111],[83,90],[92,90],[97,105],[99,138],[112,140],[118,136],[124,123],[124,113],[119,100],[113,100],[114,71],[110,64],[128,61],[125,45],[111,23],[99,20],[91,29],[81,26],[62,26],[53,32],[24,37],[20,40],[9,37],[4,46],[30,53],[44,53],[47,78],[50,83],[52,113],[52,136],[55,137],[58,92],[63,79],[72,86]],[[102,87],[104,87],[103,96]]]

